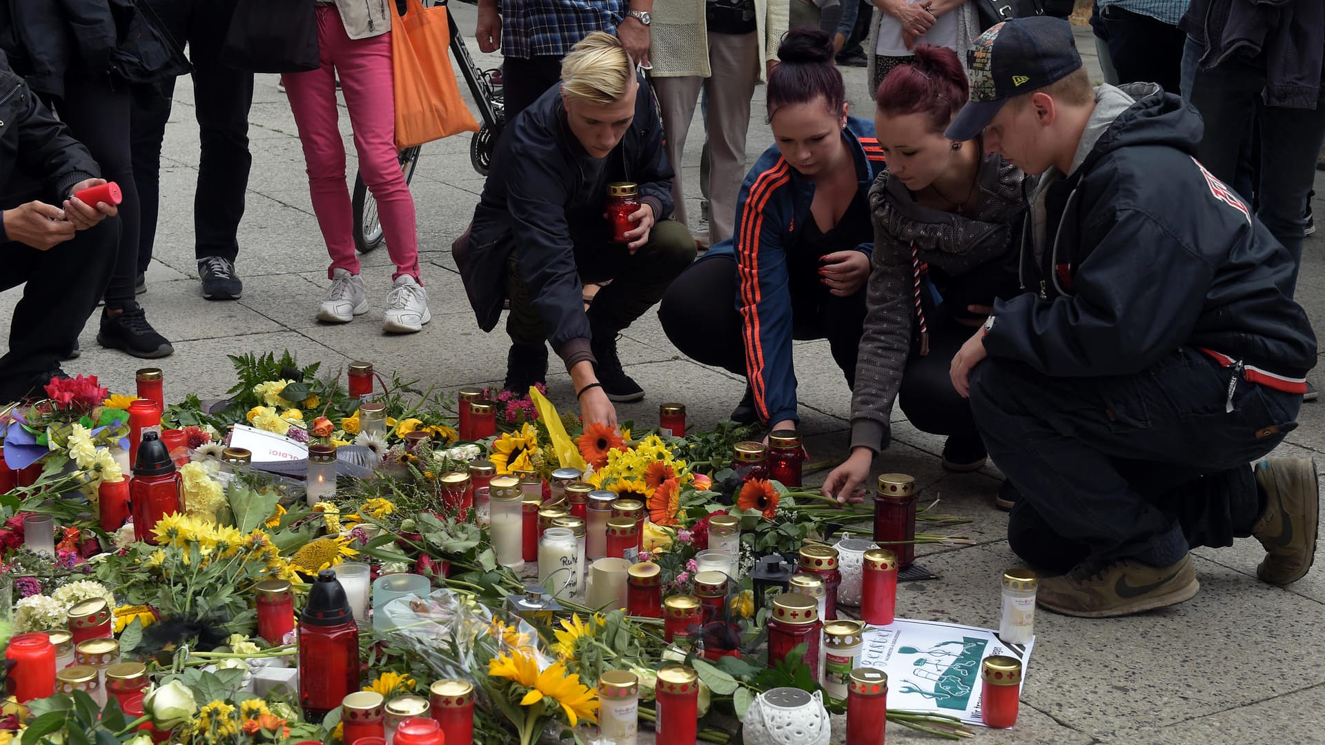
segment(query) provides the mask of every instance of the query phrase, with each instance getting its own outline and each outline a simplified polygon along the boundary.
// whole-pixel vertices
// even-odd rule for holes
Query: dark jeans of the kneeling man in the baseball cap
[[[1302,396],[1178,349],[1134,375],[1049,378],[988,358],[971,414],[1022,498],[1008,544],[1032,566],[1134,558],[1169,566],[1189,546],[1251,534],[1261,506],[1248,463],[1297,427]]]

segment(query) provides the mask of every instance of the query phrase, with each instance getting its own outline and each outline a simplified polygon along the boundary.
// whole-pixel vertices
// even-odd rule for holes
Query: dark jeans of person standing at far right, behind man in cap
[[[1325,105],[1314,110],[1265,106],[1264,69],[1236,57],[1208,70],[1198,69],[1203,49],[1189,37],[1182,64],[1183,97],[1206,123],[1196,155],[1216,178],[1246,194],[1238,184],[1238,162],[1255,122],[1260,130],[1256,216],[1301,266],[1306,199],[1316,182],[1316,158],[1325,144]]]

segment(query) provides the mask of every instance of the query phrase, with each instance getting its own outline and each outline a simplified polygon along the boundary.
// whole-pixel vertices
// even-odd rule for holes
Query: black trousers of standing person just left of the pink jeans
[[[221,42],[231,25],[235,0],[143,0],[160,17],[166,32],[184,46],[193,62],[193,105],[201,137],[197,190],[193,192],[193,251],[197,258],[238,256],[238,225],[249,167],[248,113],[253,103],[253,73],[227,68]],[[142,200],[138,272],[146,272],[156,240],[160,205],[160,156],[175,81],[134,86],[132,167]]]

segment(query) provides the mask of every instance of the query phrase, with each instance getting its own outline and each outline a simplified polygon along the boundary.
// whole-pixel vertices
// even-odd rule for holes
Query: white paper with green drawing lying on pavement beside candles
[[[1022,685],[1035,638],[1004,644],[998,632],[974,626],[906,620],[865,628],[857,667],[888,673],[888,708],[937,712],[967,724],[980,720],[980,663],[992,655],[1022,660]]]

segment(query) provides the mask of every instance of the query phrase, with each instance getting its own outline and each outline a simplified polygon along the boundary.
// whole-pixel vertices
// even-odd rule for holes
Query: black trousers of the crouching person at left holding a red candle
[[[25,394],[36,375],[60,367],[106,292],[118,243],[119,217],[106,217],[49,251],[0,243],[0,292],[28,282],[13,309],[9,351],[0,357],[0,399]]]

